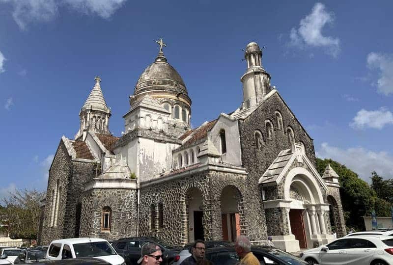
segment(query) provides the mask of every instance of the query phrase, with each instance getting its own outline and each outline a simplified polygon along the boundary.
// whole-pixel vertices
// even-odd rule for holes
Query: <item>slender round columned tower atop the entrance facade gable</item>
[[[240,78],[243,83],[243,108],[257,105],[271,91],[270,75],[262,67],[262,51],[256,42],[246,47],[246,73]]]

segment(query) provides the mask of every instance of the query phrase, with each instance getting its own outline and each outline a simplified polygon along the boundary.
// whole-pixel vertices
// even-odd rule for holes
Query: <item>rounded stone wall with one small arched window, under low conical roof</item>
[[[101,230],[104,207],[112,210],[110,231]],[[82,199],[81,237],[118,239],[137,232],[137,191],[135,189],[92,189]]]

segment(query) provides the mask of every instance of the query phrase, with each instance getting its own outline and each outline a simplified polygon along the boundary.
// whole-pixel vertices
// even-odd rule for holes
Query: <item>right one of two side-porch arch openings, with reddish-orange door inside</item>
[[[240,191],[232,185],[223,188],[220,195],[221,224],[223,240],[235,241],[241,234],[239,204],[242,200]]]

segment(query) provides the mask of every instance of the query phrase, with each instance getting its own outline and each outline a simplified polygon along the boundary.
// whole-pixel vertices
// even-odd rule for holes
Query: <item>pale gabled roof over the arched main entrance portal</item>
[[[292,143],[292,148],[282,150],[265,173],[263,173],[262,177],[259,178],[259,184],[268,184],[273,182],[279,184],[282,178],[284,178],[290,170],[295,159],[297,159],[298,162],[305,163],[309,167],[309,171],[311,171],[312,175],[314,175],[320,185],[327,190],[328,186],[325,184],[306,154],[304,154],[302,148],[303,147],[301,145]]]

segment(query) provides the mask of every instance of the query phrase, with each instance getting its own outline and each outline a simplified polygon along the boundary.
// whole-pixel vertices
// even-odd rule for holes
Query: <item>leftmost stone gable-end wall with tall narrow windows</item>
[[[67,149],[62,141],[57,148],[52,167],[49,171],[48,188],[46,195],[46,205],[44,212],[44,221],[42,234],[40,235],[41,244],[47,245],[54,239],[63,237],[64,214],[66,206],[66,191],[70,176],[71,158],[68,156]],[[56,188],[56,183],[61,186],[61,194],[59,198],[57,224],[51,226],[51,210],[52,210],[52,191]]]

